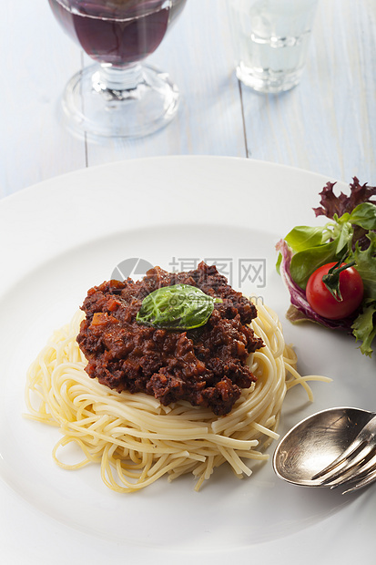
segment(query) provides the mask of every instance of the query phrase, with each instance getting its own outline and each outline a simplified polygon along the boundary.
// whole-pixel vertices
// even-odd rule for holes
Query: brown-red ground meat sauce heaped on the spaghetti
[[[178,283],[222,299],[207,324],[188,331],[138,324],[145,296]],[[186,400],[221,416],[230,412],[240,389],[255,381],[246,359],[263,345],[248,325],[256,308],[215,266],[201,262],[194,271],[175,273],[156,267],[139,282],[103,282],[88,291],[82,310],[86,319],[77,343],[88,361],[86,372],[118,392],[144,392],[165,406]]]

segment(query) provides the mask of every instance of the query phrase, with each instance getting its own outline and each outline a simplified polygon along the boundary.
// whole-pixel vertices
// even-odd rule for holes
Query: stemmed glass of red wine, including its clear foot
[[[96,63],[66,85],[70,128],[93,136],[136,138],[167,125],[178,87],[141,63],[153,53],[186,0],[48,0],[57,21]]]

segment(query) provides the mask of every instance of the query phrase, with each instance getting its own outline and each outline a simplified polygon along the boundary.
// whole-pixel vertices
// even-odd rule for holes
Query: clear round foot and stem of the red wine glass
[[[155,67],[92,65],[66,85],[68,128],[94,137],[139,138],[163,128],[178,111],[178,87]]]

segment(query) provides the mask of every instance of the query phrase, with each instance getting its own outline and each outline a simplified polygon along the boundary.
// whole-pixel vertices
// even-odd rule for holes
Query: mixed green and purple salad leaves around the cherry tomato
[[[334,194],[328,182],[320,192],[316,216],[329,219],[324,226],[296,226],[277,244],[277,270],[290,291],[288,318],[312,320],[330,329],[341,329],[361,341],[361,353],[371,356],[376,337],[376,187],[361,185],[354,177],[351,193]],[[361,274],[364,295],[359,311],[342,320],[328,320],[307,302],[305,288],[312,272],[329,262],[353,263]]]

